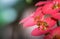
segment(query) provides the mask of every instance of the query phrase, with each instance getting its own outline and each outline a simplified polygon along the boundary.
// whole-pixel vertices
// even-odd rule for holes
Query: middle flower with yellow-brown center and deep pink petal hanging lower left
[[[49,30],[52,29],[52,27],[54,26],[54,24],[56,22],[54,22],[54,20],[52,20],[51,18],[46,18],[44,20],[41,20],[43,23],[41,23],[40,25],[38,24],[38,28],[34,29],[32,31],[32,35],[33,36],[39,36],[39,35],[43,35],[47,32],[49,32]]]

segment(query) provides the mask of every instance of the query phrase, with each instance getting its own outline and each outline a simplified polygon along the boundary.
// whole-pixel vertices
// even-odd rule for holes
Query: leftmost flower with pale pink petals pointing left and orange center
[[[22,23],[23,24],[23,27],[30,27],[30,26],[36,25],[36,21],[39,18],[42,18],[42,16],[43,16],[43,14],[41,13],[40,10],[41,10],[41,8],[37,8],[36,12],[34,12],[30,16],[22,19],[20,21],[20,24]],[[35,19],[37,19],[37,20],[35,21]]]

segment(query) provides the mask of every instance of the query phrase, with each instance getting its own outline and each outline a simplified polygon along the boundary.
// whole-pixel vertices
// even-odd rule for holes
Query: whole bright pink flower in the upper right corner
[[[43,5],[44,4],[44,5]],[[39,6],[43,5],[43,6]],[[49,14],[51,17],[60,20],[60,0],[52,0],[45,2],[38,2],[36,6],[42,7],[43,14]]]

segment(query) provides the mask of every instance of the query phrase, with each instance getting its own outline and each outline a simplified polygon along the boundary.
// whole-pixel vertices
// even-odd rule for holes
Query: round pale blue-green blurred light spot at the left
[[[5,24],[14,22],[17,18],[17,15],[17,11],[13,8],[5,9],[1,12],[2,21],[4,21],[3,23]]]

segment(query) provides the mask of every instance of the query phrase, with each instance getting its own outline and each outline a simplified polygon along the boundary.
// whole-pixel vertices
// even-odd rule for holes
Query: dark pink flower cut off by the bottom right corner
[[[60,27],[53,29],[44,39],[60,39]]]

